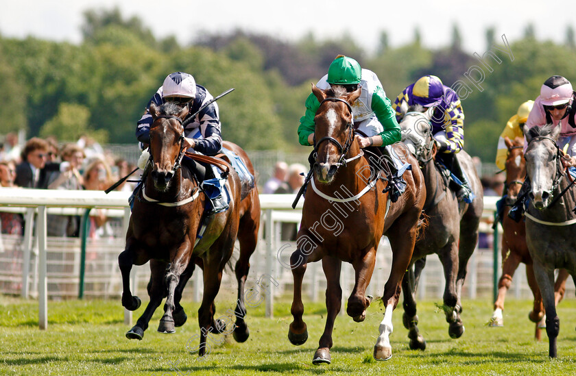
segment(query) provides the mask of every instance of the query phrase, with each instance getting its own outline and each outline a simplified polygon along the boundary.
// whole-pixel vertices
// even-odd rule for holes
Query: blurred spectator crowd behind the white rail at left
[[[0,140],[1,140],[0,136]],[[6,134],[0,142],[1,188],[36,188],[60,190],[105,190],[134,166],[121,158],[114,158],[89,136],[77,142],[58,142],[56,138],[33,137],[21,145],[14,133]],[[129,190],[125,181],[117,190]],[[0,211],[2,234],[22,235],[24,221],[21,214]],[[49,214],[48,236],[77,237],[80,218]],[[90,217],[88,236],[111,236],[110,218],[97,211]]]

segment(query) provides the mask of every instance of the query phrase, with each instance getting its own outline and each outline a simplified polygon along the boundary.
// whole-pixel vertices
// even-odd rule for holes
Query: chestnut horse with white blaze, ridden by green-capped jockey
[[[398,304],[400,281],[418,233],[418,220],[426,197],[424,179],[416,159],[409,153],[404,154],[406,166],[411,167],[403,173],[407,187],[398,201],[391,203],[380,171],[372,171],[355,139],[352,103],[359,97],[361,88],[346,92],[341,86],[321,90],[313,85],[312,92],[320,101],[314,118],[315,163],[302,208],[297,248],[290,257],[294,290],[293,321],[288,338],[296,345],[308,338],[307,325],[302,320],[302,278],[309,262],[322,260],[328,314],[312,362],[331,362],[332,331],[342,299],[341,262],[349,262],[355,269],[355,286],[348,298],[346,313],[361,322],[370,305],[371,299],[365,296],[365,291],[374,271],[376,248],[386,235],[392,247],[392,271],[384,287],[385,314],[374,346],[374,358],[388,360],[392,357],[389,342],[392,311]]]

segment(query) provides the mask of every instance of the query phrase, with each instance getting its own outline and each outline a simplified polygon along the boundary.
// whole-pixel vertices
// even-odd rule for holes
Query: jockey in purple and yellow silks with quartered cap
[[[455,154],[464,147],[464,111],[454,90],[442,84],[440,78],[427,75],[405,88],[396,97],[392,108],[400,122],[405,109],[412,105],[434,108],[430,119],[432,134],[436,142],[436,159],[455,175],[459,188],[457,197],[466,202],[474,198],[464,171]],[[404,110],[404,112],[403,112]]]

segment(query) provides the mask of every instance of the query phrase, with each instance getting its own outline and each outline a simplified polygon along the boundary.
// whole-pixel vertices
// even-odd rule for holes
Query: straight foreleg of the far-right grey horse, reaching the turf
[[[546,268],[537,260],[533,260],[534,276],[538,281],[540,294],[542,294],[542,303],[546,311],[546,333],[549,340],[549,356],[556,358],[556,338],[560,332],[560,318],[556,314],[556,305],[554,301],[554,268]]]

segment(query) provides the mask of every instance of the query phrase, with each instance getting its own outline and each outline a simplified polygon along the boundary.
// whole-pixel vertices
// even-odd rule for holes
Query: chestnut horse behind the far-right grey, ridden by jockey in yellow
[[[505,162],[507,196],[502,214],[502,276],[498,282],[498,295],[494,302],[494,313],[490,318],[490,326],[502,327],[504,325],[502,311],[504,310],[506,292],[512,285],[512,277],[514,277],[516,268],[520,262],[523,262],[526,264],[528,286],[534,296],[533,309],[529,312],[528,318],[536,323],[534,338],[540,340],[542,338],[540,329],[546,327],[544,305],[542,305],[542,295],[538,289],[536,277],[534,277],[532,258],[526,245],[526,225],[524,221],[516,222],[507,215],[510,206],[514,205],[518,199],[518,193],[526,177],[524,138],[516,137],[514,140],[510,140],[505,137],[504,143],[508,149],[508,154]],[[564,292],[566,292],[566,279],[568,279],[568,272],[560,269],[554,284],[556,305],[560,303],[564,297]]]

